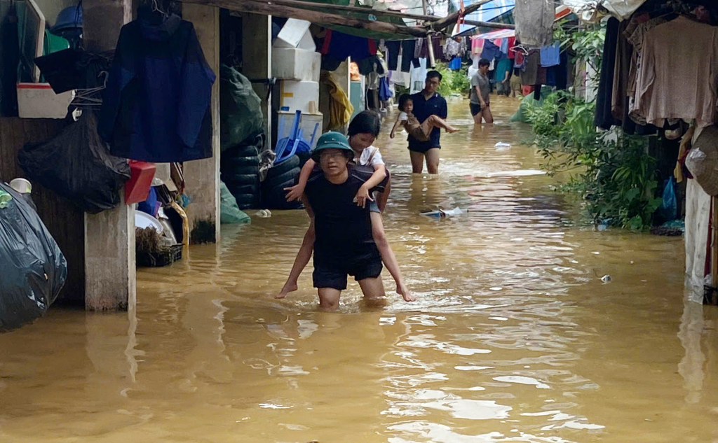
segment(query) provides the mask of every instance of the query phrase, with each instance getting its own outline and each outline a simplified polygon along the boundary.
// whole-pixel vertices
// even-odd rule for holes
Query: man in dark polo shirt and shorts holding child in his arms
[[[431,115],[447,118],[447,101],[439,95],[437,87],[442,83],[442,75],[437,71],[426,73],[424,90],[411,96],[414,102],[414,116],[419,123],[424,122]],[[424,171],[424,158],[426,170],[429,173],[439,173],[439,149],[442,148],[439,138],[442,136],[440,128],[434,128],[428,141],[419,141],[409,135],[409,154],[411,155],[411,169],[414,173]]]

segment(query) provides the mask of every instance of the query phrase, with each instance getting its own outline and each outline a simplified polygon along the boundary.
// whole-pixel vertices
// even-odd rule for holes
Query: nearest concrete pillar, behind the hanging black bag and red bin
[[[83,1],[85,47],[93,52],[115,49],[120,29],[131,17],[131,0]],[[134,309],[135,303],[134,205],[85,214],[85,309]]]

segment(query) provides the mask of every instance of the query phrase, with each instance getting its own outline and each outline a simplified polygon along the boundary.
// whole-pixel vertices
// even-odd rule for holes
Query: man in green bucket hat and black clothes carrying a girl
[[[381,214],[354,202],[357,191],[370,178],[373,170],[350,164],[354,151],[347,138],[335,132],[320,137],[312,151],[312,158],[319,167],[312,171],[304,190],[304,205],[312,217],[312,226],[304,237],[304,243],[314,244],[312,278],[319,293],[320,307],[327,310],[338,308],[341,292],[347,287],[348,275],[359,282],[368,302],[376,303],[383,299],[382,260],[396,280],[397,289],[406,293],[405,300],[407,297],[407,301],[414,300],[406,290],[386,237],[381,235],[376,238],[372,229],[376,217],[381,225]],[[380,184],[372,191],[382,189],[383,184]],[[308,260],[308,255],[302,257],[300,253],[294,266],[301,269]]]

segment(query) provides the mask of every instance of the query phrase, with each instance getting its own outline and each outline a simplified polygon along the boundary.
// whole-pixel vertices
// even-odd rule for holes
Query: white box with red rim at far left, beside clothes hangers
[[[18,83],[17,110],[20,118],[65,118],[75,91],[55,94],[50,83]]]

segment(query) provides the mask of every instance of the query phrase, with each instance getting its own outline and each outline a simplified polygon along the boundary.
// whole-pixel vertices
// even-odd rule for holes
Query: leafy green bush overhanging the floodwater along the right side
[[[543,167],[551,174],[572,172],[562,188],[582,196],[593,222],[633,230],[651,226],[661,199],[655,198],[656,161],[645,153],[645,138],[599,133],[595,103],[568,92],[554,92],[527,112]]]

